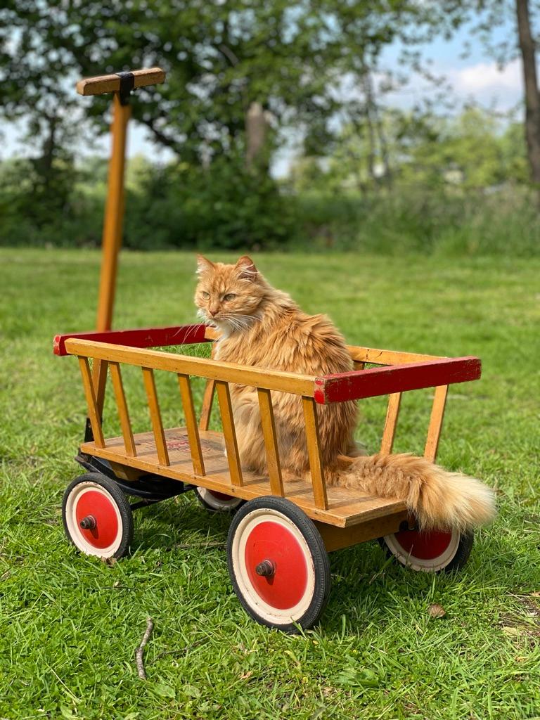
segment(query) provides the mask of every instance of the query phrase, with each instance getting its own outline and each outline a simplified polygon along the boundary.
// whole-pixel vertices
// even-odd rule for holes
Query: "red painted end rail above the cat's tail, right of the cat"
[[[477,380],[482,363],[476,357],[465,357],[390,367],[377,367],[356,372],[342,372],[315,379],[315,402],[359,400],[361,397],[389,395],[391,392],[420,390],[456,382]]]

